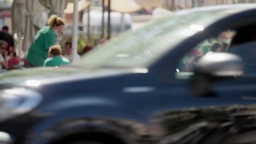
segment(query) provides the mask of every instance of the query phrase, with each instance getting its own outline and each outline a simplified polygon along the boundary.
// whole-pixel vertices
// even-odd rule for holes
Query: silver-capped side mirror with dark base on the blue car
[[[208,53],[196,62],[192,91],[196,95],[212,95],[215,81],[243,75],[243,61],[234,54],[225,52]]]

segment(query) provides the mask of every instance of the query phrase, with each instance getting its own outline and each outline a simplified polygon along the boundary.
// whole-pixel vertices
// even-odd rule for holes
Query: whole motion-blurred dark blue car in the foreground
[[[256,143],[255,29],[255,4],[182,10],[68,67],[5,71],[0,143]]]

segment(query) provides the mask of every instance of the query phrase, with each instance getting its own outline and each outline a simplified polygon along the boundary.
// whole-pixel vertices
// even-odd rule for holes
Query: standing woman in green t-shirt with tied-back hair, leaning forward
[[[62,31],[65,21],[52,15],[47,24],[48,26],[37,32],[30,49],[26,52],[25,59],[31,67],[43,67],[45,59],[48,58],[49,47],[55,45],[55,33]]]

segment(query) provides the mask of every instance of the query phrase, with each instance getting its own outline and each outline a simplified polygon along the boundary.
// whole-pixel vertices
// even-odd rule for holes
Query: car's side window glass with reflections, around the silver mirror
[[[252,26],[240,29],[228,29],[217,37],[203,40],[193,50],[187,53],[177,64],[176,79],[189,79],[193,75],[197,61],[208,53],[228,52],[242,58],[243,76],[256,74],[256,34],[249,33]],[[249,34],[248,34],[249,33]]]

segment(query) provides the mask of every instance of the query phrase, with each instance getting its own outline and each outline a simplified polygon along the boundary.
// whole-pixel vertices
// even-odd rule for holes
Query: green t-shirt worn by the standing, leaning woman
[[[54,44],[53,30],[48,26],[43,27],[37,32],[30,49],[26,52],[25,59],[33,67],[43,67],[45,59],[48,58],[49,47]]]

